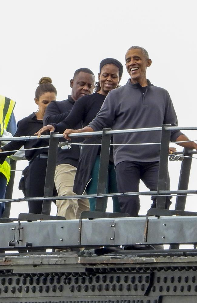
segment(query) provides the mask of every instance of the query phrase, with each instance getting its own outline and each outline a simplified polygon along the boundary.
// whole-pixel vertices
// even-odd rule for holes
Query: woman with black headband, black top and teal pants
[[[63,133],[65,129],[75,128],[75,125],[80,121],[84,127],[96,117],[107,94],[119,85],[123,72],[122,64],[113,58],[102,60],[99,67],[99,81],[96,82],[95,93],[79,98],[75,101],[72,111],[64,121],[46,125],[36,135],[41,135],[42,132],[47,130]],[[85,139],[84,143],[101,143],[101,138],[88,138]],[[99,145],[83,145],[73,187],[73,191],[77,195],[82,195],[85,191],[87,194],[96,194],[99,157]],[[109,193],[117,192],[112,148],[109,161],[108,191]],[[95,210],[95,200],[95,198],[89,199],[91,211]],[[120,212],[118,198],[116,197],[113,198],[113,210],[114,212]]]

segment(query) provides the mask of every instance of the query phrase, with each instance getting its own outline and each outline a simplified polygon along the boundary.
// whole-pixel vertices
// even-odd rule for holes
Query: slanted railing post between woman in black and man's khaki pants
[[[54,137],[54,135],[56,135],[56,134],[59,134],[59,133],[51,132],[50,140],[49,140],[44,198],[51,197],[53,195],[54,175],[55,175],[56,158],[57,158],[57,151],[58,151],[58,142],[59,142],[59,138]],[[51,200],[43,200],[42,214],[50,215],[50,212],[51,212]]]

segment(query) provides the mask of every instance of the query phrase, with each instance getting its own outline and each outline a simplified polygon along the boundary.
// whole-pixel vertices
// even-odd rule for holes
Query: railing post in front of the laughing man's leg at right
[[[169,156],[169,143],[171,131],[166,130],[166,126],[171,126],[170,124],[162,124],[162,136],[161,136],[161,146],[160,146],[160,158],[159,158],[159,174],[158,174],[158,185],[157,185],[157,202],[156,208],[165,209],[165,196],[159,196],[160,190],[167,190],[167,180],[168,180],[168,156]]]

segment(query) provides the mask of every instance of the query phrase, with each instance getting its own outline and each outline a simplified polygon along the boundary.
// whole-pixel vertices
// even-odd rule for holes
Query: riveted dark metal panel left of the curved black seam
[[[149,292],[152,273],[109,273],[96,275],[73,275],[58,273],[44,275],[12,275],[1,278],[2,298],[79,296],[118,296],[129,299],[144,296]],[[37,300],[36,300],[37,301]]]

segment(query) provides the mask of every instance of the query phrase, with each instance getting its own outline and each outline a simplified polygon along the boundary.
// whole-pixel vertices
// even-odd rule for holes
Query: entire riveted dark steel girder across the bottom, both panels
[[[102,269],[102,268],[100,268]],[[1,302],[195,302],[196,270],[115,268],[105,273],[1,273]],[[135,271],[136,269],[136,271]],[[187,300],[184,301],[187,297]],[[193,301],[192,301],[193,300]]]

